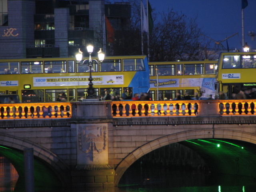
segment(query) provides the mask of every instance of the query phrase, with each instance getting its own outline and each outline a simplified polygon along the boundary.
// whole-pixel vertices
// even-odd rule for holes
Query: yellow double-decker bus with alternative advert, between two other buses
[[[177,93],[181,98],[191,98],[200,90],[202,97],[214,97],[217,60],[149,62],[150,96],[152,100],[173,100]]]

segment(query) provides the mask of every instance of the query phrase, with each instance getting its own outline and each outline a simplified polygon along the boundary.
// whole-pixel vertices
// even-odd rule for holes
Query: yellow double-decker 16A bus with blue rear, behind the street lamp
[[[86,58],[84,58],[86,59]],[[0,60],[0,94],[16,94],[22,102],[77,101],[86,98],[89,66],[75,58],[24,58]],[[95,96],[108,92],[131,99],[148,92],[146,56],[110,56],[92,66]]]

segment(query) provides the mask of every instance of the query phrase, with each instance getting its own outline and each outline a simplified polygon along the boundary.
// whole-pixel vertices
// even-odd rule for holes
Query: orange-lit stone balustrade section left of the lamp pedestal
[[[71,103],[0,104],[1,119],[71,118]]]

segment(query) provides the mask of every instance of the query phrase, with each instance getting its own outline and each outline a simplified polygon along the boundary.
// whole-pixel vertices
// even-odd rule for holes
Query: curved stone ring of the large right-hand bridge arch
[[[212,137],[209,137],[209,135]],[[241,140],[245,142],[250,142],[256,144],[256,134],[250,132],[243,132],[240,130],[227,130],[216,128],[214,130],[198,129],[198,130],[187,130],[184,132],[178,132],[175,134],[166,135],[160,138],[157,138],[153,141],[150,141],[133,152],[131,152],[126,158],[124,158],[120,164],[115,169],[115,178],[114,184],[118,185],[124,172],[140,157],[145,154],[152,152],[160,147],[166,146],[168,144],[181,142],[184,140],[191,139],[201,139],[201,138],[222,138],[222,139],[232,139],[232,140]]]

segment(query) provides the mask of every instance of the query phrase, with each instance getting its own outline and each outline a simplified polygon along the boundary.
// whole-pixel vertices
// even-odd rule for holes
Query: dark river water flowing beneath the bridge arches
[[[18,174],[10,162],[0,158],[0,192],[16,190]],[[49,190],[36,190],[36,192]],[[66,192],[67,190],[60,189]],[[72,191],[72,190],[68,190]],[[213,174],[208,170],[182,166],[134,163],[119,182],[119,186],[107,189],[87,189],[79,192],[255,192],[255,178],[236,175]],[[57,192],[56,190],[51,192]]]

